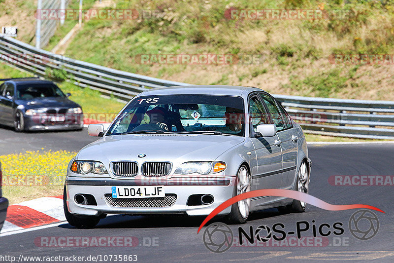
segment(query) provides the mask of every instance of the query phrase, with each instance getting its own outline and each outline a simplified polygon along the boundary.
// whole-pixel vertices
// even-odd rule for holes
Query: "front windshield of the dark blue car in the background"
[[[65,94],[54,84],[22,84],[16,89],[16,97],[19,100],[33,98],[65,97]]]

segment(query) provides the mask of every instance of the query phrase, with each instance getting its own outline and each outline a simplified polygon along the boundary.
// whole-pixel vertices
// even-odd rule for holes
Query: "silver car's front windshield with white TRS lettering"
[[[243,100],[217,95],[138,97],[119,115],[107,135],[183,132],[244,135]]]

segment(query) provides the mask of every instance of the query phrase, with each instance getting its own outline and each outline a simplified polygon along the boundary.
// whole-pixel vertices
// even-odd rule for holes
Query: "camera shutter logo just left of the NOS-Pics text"
[[[208,225],[202,236],[205,247],[214,253],[227,251],[231,247],[233,239],[234,235],[230,227],[220,222]]]

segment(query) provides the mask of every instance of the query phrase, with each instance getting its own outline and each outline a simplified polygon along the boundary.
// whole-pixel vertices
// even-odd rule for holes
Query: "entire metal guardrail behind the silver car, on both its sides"
[[[148,88],[190,85],[74,60],[0,35],[0,60],[36,76],[66,73],[75,85],[124,101]],[[394,139],[394,102],[275,95],[305,133]],[[353,126],[351,126],[353,125]],[[392,128],[393,127],[393,128]]]

